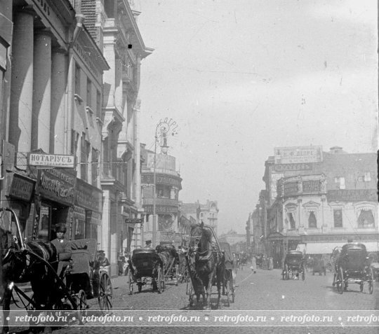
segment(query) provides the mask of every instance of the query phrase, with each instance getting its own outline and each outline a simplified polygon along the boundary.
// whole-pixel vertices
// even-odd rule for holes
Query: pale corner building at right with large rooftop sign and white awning
[[[346,153],[338,146],[275,151],[265,163],[266,190],[258,205],[265,212],[264,250],[274,265],[300,244],[308,254],[331,253],[348,240],[378,251],[375,153]]]

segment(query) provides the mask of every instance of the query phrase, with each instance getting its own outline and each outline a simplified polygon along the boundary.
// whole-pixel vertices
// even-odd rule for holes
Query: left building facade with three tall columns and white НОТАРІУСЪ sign
[[[67,225],[69,239],[98,239],[101,190],[91,153],[100,152],[100,109],[92,111],[97,95],[88,90],[102,91],[109,67],[72,1],[9,2],[1,206],[15,209],[27,239],[53,239],[57,223]]]

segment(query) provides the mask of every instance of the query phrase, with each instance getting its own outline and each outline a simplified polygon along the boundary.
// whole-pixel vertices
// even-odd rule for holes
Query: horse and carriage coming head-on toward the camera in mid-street
[[[230,291],[234,301],[233,257],[230,247],[222,246],[211,226],[204,223],[192,225],[189,247],[186,253],[189,282],[187,295],[189,306],[194,305],[194,297],[199,302],[200,295],[206,308],[211,307],[211,295],[218,295],[217,307],[221,298],[221,286],[230,305]],[[212,287],[217,286],[217,293]]]

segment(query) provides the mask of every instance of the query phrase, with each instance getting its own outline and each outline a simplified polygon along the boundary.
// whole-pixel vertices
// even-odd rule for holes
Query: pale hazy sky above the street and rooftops
[[[375,0],[133,0],[142,60],[140,139],[161,118],[183,202],[218,202],[218,232],[245,232],[274,147],[375,152]]]

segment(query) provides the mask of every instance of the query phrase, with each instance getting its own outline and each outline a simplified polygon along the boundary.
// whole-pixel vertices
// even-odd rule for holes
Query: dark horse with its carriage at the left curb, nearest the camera
[[[6,315],[13,293],[18,295],[18,300],[28,311],[74,310],[79,314],[79,321],[89,307],[87,298],[98,298],[100,309],[105,312],[112,308],[112,283],[107,272],[100,270],[95,239],[69,242],[72,247],[69,270],[66,274],[64,271],[58,274],[60,263],[55,246],[41,240],[24,242],[15,211],[2,208],[0,212],[1,223],[5,212],[11,214],[11,221],[15,223],[15,235],[0,228],[4,330],[8,327]],[[32,296],[17,286],[25,282],[30,282]]]

